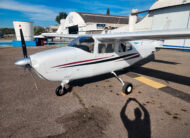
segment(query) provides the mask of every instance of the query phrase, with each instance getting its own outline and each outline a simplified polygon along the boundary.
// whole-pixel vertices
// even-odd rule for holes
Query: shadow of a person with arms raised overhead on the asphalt
[[[127,106],[130,102],[135,102],[139,107],[134,109],[135,119],[130,120],[126,115]],[[140,110],[141,109],[141,110]],[[143,119],[142,112],[143,112]],[[147,109],[139,103],[135,98],[129,98],[120,112],[120,117],[128,131],[128,138],[150,138],[151,137],[151,126],[150,126],[150,115]]]

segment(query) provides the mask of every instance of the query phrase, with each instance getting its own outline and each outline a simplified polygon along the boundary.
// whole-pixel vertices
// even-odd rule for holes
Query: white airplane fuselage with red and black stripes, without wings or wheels
[[[129,67],[148,57],[161,45],[159,41],[138,42],[93,40],[91,51],[84,48],[91,41],[78,46],[66,46],[39,52],[30,56],[37,74],[50,81],[72,81],[109,73]]]

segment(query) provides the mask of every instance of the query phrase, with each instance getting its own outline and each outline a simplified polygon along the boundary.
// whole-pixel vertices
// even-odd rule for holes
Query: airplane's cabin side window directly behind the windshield
[[[115,46],[112,43],[100,43],[98,45],[98,53],[113,53],[114,48]]]

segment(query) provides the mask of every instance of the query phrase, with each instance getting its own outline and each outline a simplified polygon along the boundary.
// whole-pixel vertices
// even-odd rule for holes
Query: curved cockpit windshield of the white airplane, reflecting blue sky
[[[81,36],[71,41],[68,46],[80,48],[84,51],[93,53],[94,51],[94,39],[89,36]]]

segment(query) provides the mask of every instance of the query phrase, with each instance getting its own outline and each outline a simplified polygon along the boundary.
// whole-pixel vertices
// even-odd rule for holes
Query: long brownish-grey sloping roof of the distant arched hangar
[[[128,24],[128,16],[118,16],[118,15],[106,15],[106,14],[94,14],[94,13],[84,13],[77,12],[85,22],[95,22],[95,23],[111,23],[111,24]]]

